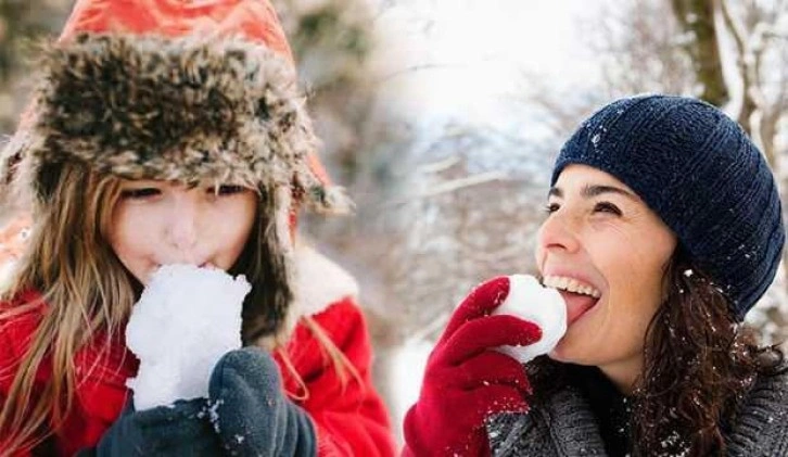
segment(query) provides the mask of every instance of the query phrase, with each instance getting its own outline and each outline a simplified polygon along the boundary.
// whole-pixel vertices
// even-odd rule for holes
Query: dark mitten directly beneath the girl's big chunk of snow
[[[207,399],[194,398],[141,411],[135,411],[129,401],[99,445],[80,455],[220,456],[223,450],[209,421]]]

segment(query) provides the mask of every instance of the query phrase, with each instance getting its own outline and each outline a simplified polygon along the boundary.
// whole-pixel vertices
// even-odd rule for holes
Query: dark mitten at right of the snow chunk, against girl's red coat
[[[208,393],[214,424],[231,455],[317,455],[312,420],[284,396],[279,367],[267,352],[244,347],[225,354]]]

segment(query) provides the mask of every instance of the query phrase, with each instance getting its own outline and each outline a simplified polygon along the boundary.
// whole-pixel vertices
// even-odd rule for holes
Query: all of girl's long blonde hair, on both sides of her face
[[[0,436],[5,446],[2,455],[34,448],[63,423],[76,393],[75,355],[97,334],[107,337],[109,348],[109,343],[124,330],[140,288],[106,241],[112,212],[120,194],[119,178],[97,174],[87,165],[76,163],[47,165],[39,178],[37,191],[41,198],[34,208],[35,223],[28,250],[18,261],[15,277],[9,289],[2,291],[0,300],[9,303],[27,290],[40,292],[41,300],[9,307],[0,313],[0,320],[31,312],[43,303],[47,308],[41,313],[29,350],[21,357],[16,373],[0,372],[1,377],[13,376],[9,395],[0,407]],[[275,304],[281,307],[284,300],[293,296],[290,290],[260,293],[272,276],[281,275],[284,262],[279,253],[268,249],[269,243],[260,241],[272,232],[271,221],[264,213],[270,210],[265,200],[266,192],[263,192],[256,218],[257,232],[253,231],[237,267],[231,269],[231,272],[245,274],[253,288],[244,302],[244,343],[265,340],[267,343],[260,345],[280,351],[285,369],[304,388],[300,396],[288,394],[295,399],[305,399],[308,391],[282,351],[284,341],[264,323],[269,307]],[[256,238],[256,242],[252,238]],[[338,372],[343,389],[349,382],[348,373],[364,388],[353,364],[325,330],[309,317],[302,318],[302,322],[325,350],[326,366]],[[266,333],[277,338],[268,339]],[[36,372],[48,357],[51,359],[50,382],[34,397]]]

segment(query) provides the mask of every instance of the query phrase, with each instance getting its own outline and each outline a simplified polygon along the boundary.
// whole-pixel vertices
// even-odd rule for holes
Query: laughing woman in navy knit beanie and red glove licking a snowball
[[[561,150],[538,234],[567,333],[523,369],[486,350],[539,329],[490,316],[508,278],[476,289],[430,357],[406,455],[788,455],[783,353],[741,326],[784,240],[772,174],[719,110],[605,106]]]

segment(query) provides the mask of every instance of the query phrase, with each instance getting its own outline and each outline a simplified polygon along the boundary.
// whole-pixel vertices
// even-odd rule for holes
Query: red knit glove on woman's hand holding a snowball
[[[533,322],[490,316],[508,294],[509,278],[495,278],[455,310],[427,361],[419,401],[405,417],[404,456],[488,456],[484,419],[528,411],[531,384],[522,365],[488,351],[542,338]]]

